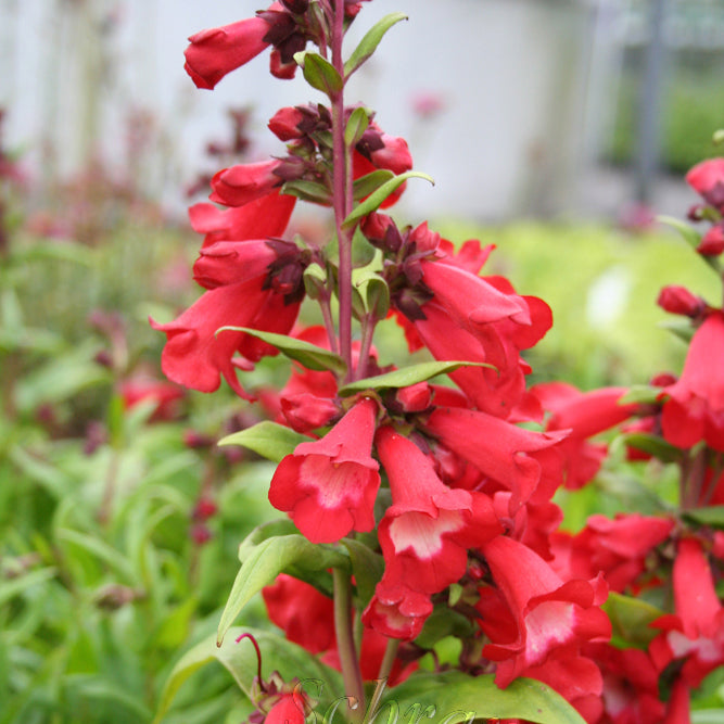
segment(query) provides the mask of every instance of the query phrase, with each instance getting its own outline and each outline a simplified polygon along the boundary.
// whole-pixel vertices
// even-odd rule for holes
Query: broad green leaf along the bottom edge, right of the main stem
[[[386,708],[391,716],[397,713],[402,721],[408,717],[412,721],[411,712],[415,712],[419,720],[446,724],[486,719],[584,724],[581,714],[549,686],[531,678],[517,678],[500,689],[493,678],[493,674],[468,676],[457,671],[429,675],[417,672],[395,686],[382,699],[378,711],[382,713]],[[382,716],[377,721],[383,721]]]

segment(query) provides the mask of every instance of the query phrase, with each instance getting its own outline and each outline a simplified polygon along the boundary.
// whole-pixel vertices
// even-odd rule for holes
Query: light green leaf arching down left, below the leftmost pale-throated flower
[[[280,535],[267,538],[250,550],[233,582],[218,625],[217,642],[224,640],[226,632],[246,604],[264,586],[274,583],[280,573],[301,571],[326,571],[328,568],[350,568],[350,559],[341,550],[328,545],[315,545],[303,535]]]

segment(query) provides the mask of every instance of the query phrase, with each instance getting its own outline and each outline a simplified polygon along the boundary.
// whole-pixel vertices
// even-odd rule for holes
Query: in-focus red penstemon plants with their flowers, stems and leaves
[[[225,651],[257,709],[250,721],[302,722],[326,702],[327,721],[339,710],[369,722],[371,707],[397,706],[380,683],[407,677],[398,691],[410,707],[455,701],[478,720],[633,724],[656,711],[685,721],[693,687],[722,663],[708,560],[721,556],[723,538],[687,526],[698,506],[724,499],[724,313],[684,288],[662,293],[661,306],[695,327],[678,380],[661,377],[643,392],[529,388],[524,352],[550,328],[548,305],[483,274],[492,244],[456,249],[427,221],[402,226],[380,211],[424,175],[370,109],[345,104],[351,76],[404,18],[378,22],[345,59],[361,9],[282,0],[192,36],[186,53],[194,82],[213,88],[271,48],[274,76],[301,71],[325,97],[269,120],[285,152],[213,177],[213,203],[190,209],[204,237],[193,271],[205,291],[176,320],[152,322],[167,336],[167,377],[204,392],[224,379],[271,418],[221,441],[277,463],[268,496],[287,513],[241,544],[219,624],[218,643],[263,590],[285,635],[278,653],[271,644],[266,651],[279,664],[274,686]],[[712,221],[695,247],[719,269],[722,160],[687,180],[707,204],[693,218]],[[290,233],[301,203],[328,211],[326,238]],[[427,361],[382,363],[376,331],[388,317]],[[278,354],[292,365],[285,384],[242,386],[239,376]],[[679,466],[688,517],[663,507],[590,515],[577,533],[561,531],[559,491],[590,490],[610,448],[589,439],[622,423],[639,457]],[[642,592],[658,601],[672,593],[672,569],[675,614],[637,606]],[[687,587],[702,592],[697,604]],[[661,633],[642,633],[642,621]],[[297,690],[292,664],[313,672],[313,696]],[[636,666],[632,686],[656,700],[649,709],[620,694]],[[660,701],[656,685],[672,672],[670,701]],[[378,682],[371,699],[369,681]],[[530,686],[532,698],[521,694]]]

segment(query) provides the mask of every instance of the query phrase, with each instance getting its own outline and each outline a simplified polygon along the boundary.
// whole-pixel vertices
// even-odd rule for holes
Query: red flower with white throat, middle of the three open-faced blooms
[[[503,532],[493,504],[482,493],[446,487],[417,445],[392,428],[381,428],[376,444],[392,492],[379,525],[383,585],[439,593],[463,575],[468,548]]]

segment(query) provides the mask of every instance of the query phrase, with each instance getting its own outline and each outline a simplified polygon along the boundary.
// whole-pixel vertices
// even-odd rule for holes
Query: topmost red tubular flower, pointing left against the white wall
[[[280,7],[275,2],[271,7]],[[183,53],[183,68],[196,88],[213,89],[228,73],[256,58],[268,42],[264,37],[269,24],[262,17],[249,17],[231,25],[201,30],[192,35]]]

